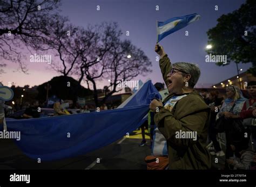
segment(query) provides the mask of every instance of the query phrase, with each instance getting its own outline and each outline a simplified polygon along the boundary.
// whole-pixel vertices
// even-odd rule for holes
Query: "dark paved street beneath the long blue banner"
[[[109,146],[72,159],[37,163],[24,155],[12,140],[0,140],[0,169],[146,169],[144,158],[151,154],[148,146],[139,147],[140,131]],[[97,163],[97,158],[100,163]]]

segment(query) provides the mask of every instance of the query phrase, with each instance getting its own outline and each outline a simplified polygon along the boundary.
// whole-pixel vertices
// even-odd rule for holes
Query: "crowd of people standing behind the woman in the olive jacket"
[[[226,98],[218,97],[217,91],[203,90],[205,103],[211,107],[211,122],[208,146],[213,156],[226,158],[225,169],[255,169],[256,166],[256,82],[247,84],[250,95],[246,99],[236,86],[226,88]],[[225,151],[217,139],[218,133],[225,134]]]

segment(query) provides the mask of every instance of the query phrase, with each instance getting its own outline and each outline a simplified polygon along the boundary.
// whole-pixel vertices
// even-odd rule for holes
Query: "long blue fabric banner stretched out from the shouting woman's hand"
[[[151,81],[147,81],[123,108],[8,120],[7,128],[21,132],[21,140],[15,142],[32,159],[51,161],[83,155],[109,145],[142,125],[149,111],[151,93],[159,94]]]

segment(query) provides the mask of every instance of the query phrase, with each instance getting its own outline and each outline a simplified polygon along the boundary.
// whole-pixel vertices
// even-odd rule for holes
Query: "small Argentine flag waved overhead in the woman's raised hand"
[[[200,19],[200,15],[193,13],[181,17],[170,18],[164,22],[157,21],[157,40],[158,42],[167,35],[180,30],[181,28]]]

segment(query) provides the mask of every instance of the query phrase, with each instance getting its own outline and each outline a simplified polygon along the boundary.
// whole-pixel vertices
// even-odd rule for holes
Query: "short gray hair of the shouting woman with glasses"
[[[194,88],[200,77],[200,69],[198,64],[188,63],[188,62],[177,62],[172,64],[173,68],[185,71],[187,74],[191,75],[190,80],[188,80],[188,87]]]

